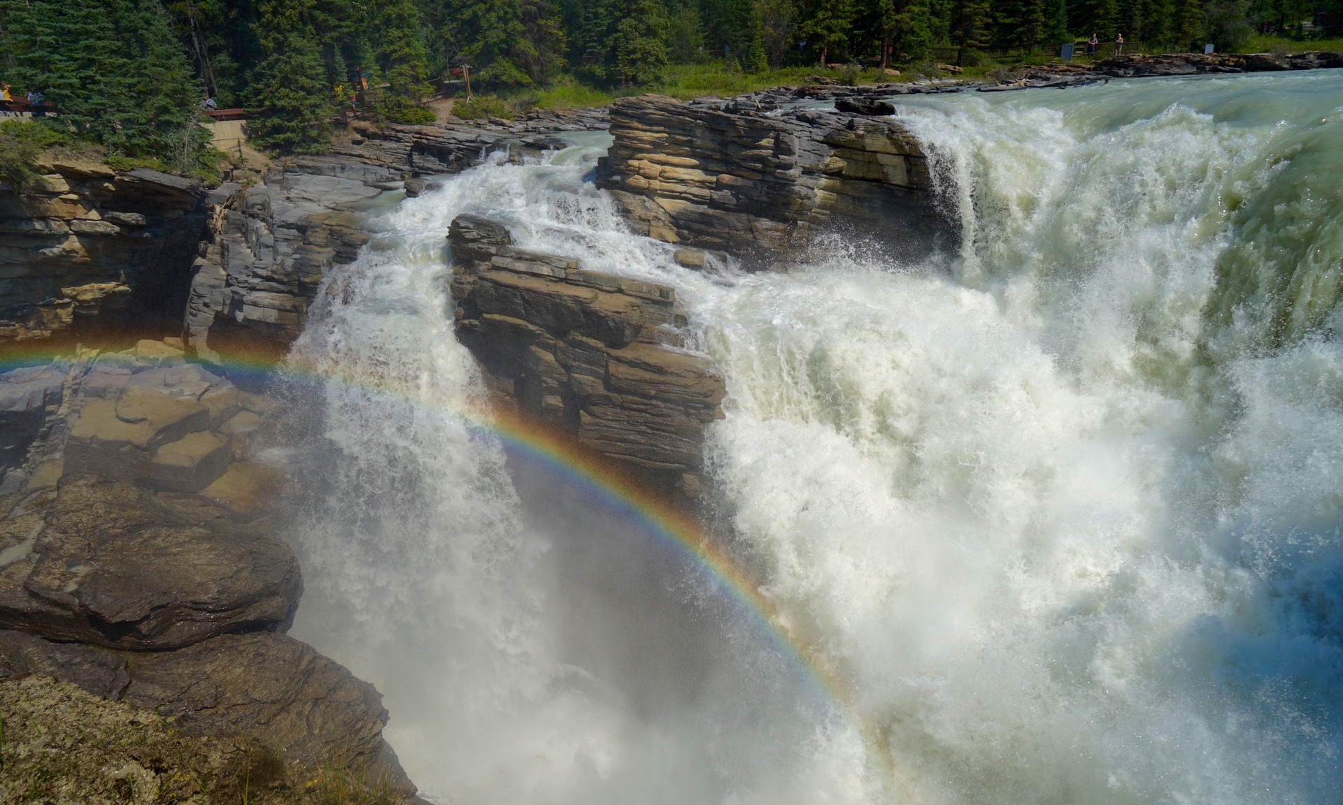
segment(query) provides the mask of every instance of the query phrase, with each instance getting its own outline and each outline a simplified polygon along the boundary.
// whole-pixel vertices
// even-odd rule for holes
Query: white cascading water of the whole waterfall
[[[404,201],[329,280],[294,360],[443,405],[328,385],[297,629],[387,694],[430,796],[1343,797],[1343,79],[897,114],[959,216],[951,260],[682,270],[583,182],[588,138]],[[728,381],[735,539],[876,739],[451,413],[481,393],[445,295],[461,212],[678,287]]]

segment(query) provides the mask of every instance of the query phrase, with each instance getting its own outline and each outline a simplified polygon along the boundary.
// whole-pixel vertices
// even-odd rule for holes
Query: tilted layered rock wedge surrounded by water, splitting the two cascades
[[[457,335],[492,388],[645,479],[697,494],[724,384],[680,347],[676,290],[516,248],[477,216],[458,216],[449,237]]]

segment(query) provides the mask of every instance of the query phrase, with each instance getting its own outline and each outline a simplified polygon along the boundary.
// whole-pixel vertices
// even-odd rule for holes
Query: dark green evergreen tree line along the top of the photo
[[[356,103],[431,119],[431,82],[463,64],[477,87],[561,72],[637,87],[673,63],[888,66],[936,47],[974,63],[1092,34],[1229,50],[1312,19],[1338,35],[1343,0],[0,0],[0,79],[114,153],[185,169],[204,154],[207,95],[246,109],[259,146],[320,152]]]

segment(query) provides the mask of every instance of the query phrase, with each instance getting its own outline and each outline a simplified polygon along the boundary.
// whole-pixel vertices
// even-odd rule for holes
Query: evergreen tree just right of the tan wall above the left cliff
[[[252,74],[247,134],[278,153],[321,153],[330,144],[329,86],[304,0],[259,7],[262,60]]]

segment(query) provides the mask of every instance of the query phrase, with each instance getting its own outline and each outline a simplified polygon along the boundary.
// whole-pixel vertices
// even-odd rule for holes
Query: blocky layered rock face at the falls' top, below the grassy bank
[[[759,263],[827,228],[885,241],[941,228],[927,158],[900,123],[717,106],[657,95],[611,106],[598,184],[638,232]]]

